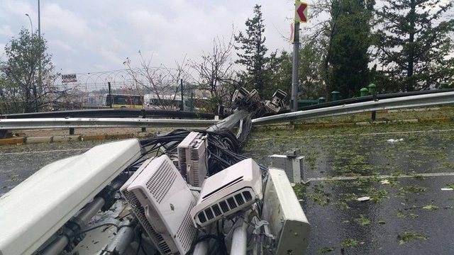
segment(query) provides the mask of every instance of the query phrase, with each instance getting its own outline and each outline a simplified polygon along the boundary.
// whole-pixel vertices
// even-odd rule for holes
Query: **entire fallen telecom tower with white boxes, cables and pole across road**
[[[0,254],[305,254],[310,226],[286,172],[240,154],[252,118],[285,96],[242,88],[206,130],[44,166],[0,198]]]

